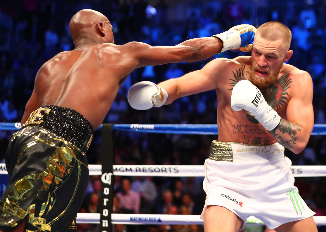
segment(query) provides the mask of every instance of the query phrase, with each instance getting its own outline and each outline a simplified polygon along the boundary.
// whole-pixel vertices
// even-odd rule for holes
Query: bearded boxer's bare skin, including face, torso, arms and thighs
[[[285,63],[292,53],[289,44],[284,45],[280,39],[263,39],[258,28],[251,56],[217,58],[201,70],[169,79],[158,86],[169,95],[165,104],[180,97],[215,89],[219,141],[255,145],[278,142],[294,153],[299,153],[307,145],[314,125],[313,84],[309,73]],[[231,108],[232,88],[244,79],[260,89],[265,100],[281,117],[274,130],[267,131],[244,110],[234,111]],[[218,220],[216,215],[219,215]],[[205,232],[235,232],[242,228],[243,223],[239,216],[222,206],[209,205],[204,215]],[[275,230],[317,232],[317,226],[313,218],[309,217],[282,224]]]

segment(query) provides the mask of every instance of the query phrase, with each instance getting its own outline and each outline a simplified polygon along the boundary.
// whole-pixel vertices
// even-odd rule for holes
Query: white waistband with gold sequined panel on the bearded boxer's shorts
[[[213,140],[209,159],[215,161],[245,162],[279,160],[284,158],[284,147],[279,143],[271,145],[249,145],[236,142]]]

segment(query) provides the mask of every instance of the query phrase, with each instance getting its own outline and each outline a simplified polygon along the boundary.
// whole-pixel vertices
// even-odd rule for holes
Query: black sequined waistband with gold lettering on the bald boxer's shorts
[[[93,138],[91,123],[75,110],[46,105],[33,111],[21,128],[40,126],[86,151]]]

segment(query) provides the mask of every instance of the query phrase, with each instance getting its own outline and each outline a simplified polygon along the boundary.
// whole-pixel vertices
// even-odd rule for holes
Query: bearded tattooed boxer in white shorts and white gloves
[[[240,46],[229,32],[214,37]],[[142,110],[216,90],[219,134],[205,161],[205,232],[240,231],[250,215],[277,232],[317,232],[315,213],[293,185],[291,162],[284,157],[284,148],[305,148],[314,125],[312,79],[285,63],[293,54],[290,43],[286,25],[267,22],[254,43],[241,49],[252,50],[250,56],[217,58],[182,77],[129,89],[129,104]]]

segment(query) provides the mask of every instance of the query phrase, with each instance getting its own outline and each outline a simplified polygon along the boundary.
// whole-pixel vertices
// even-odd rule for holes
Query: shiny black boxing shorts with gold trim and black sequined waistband
[[[92,125],[75,110],[43,106],[31,113],[9,141],[0,230],[26,220],[26,232],[77,231],[89,177],[85,151],[92,137]]]

